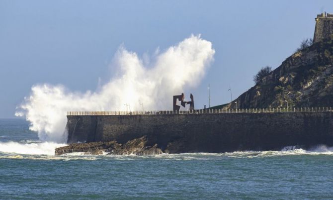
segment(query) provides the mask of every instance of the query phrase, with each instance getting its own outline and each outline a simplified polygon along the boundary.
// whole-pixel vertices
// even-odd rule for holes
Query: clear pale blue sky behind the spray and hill
[[[274,69],[304,38],[332,0],[0,0],[0,118],[38,83],[94,91],[110,76],[119,48],[154,54],[193,34],[211,41],[214,62],[191,90],[197,108],[230,101],[253,84],[263,66]],[[177,95],[177,94],[175,94]],[[171,98],[170,98],[171,99]]]

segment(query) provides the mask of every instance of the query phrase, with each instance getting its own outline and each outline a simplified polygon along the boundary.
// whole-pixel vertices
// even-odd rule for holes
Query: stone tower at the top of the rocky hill
[[[322,13],[317,14],[315,35],[313,43],[320,42],[333,34],[333,14]]]

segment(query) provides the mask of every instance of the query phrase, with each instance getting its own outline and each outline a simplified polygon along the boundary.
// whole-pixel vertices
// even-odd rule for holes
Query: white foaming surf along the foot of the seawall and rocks
[[[273,156],[297,156],[297,155],[333,155],[333,147],[326,145],[317,145],[307,150],[302,146],[286,146],[281,151],[235,151],[226,153],[182,153],[182,154],[160,154],[160,155],[90,155],[87,152],[68,153],[61,156],[55,156],[55,149],[66,146],[54,142],[40,142],[33,140],[22,140],[20,142],[0,142],[0,158],[9,159],[47,159],[47,160],[95,160],[116,159],[116,160],[133,160],[143,158],[157,158],[168,160],[209,160],[216,157],[231,158],[263,158]]]

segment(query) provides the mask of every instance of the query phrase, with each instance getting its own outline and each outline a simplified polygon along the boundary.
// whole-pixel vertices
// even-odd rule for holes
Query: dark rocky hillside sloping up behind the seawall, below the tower
[[[333,36],[294,53],[225,108],[327,107],[333,102]]]

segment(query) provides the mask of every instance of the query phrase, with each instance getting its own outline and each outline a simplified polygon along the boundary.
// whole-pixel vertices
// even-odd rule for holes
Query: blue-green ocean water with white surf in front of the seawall
[[[0,199],[333,199],[333,148],[54,156],[22,119],[0,119]]]

